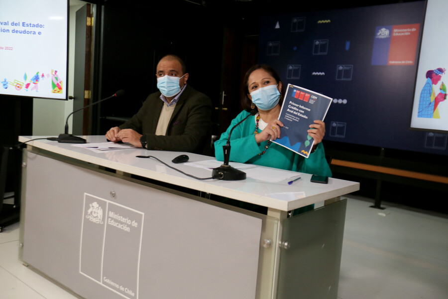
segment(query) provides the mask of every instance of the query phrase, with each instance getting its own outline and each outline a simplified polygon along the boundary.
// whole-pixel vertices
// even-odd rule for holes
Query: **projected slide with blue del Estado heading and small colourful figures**
[[[0,0],[0,94],[66,99],[67,1]]]

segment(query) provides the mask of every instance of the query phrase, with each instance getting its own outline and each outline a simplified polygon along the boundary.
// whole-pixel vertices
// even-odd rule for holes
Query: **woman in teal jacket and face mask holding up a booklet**
[[[277,72],[268,65],[254,65],[247,71],[244,76],[246,96],[242,100],[245,110],[231,122],[220,140],[215,142],[217,160],[224,160],[223,146],[231,128],[249,115],[248,111],[255,109],[258,113],[237,126],[231,134],[231,161],[331,176],[322,145],[324,122],[314,121],[310,125],[308,134],[314,138],[315,144],[308,158],[270,142],[280,138],[280,127],[283,127],[277,119],[283,102],[282,87]]]

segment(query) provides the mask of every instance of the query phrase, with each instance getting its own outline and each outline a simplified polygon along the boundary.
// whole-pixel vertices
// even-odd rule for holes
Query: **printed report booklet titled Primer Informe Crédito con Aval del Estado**
[[[278,119],[281,138],[273,141],[308,158],[314,139],[308,135],[310,125],[315,120],[323,121],[333,99],[320,93],[288,84]]]

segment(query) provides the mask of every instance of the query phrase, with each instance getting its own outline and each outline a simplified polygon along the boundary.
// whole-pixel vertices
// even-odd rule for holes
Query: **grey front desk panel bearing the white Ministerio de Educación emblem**
[[[255,298],[261,219],[26,157],[25,263],[87,299]]]

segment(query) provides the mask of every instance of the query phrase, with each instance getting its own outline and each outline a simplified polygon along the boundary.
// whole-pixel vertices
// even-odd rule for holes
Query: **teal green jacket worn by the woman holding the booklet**
[[[215,142],[215,156],[217,160],[224,160],[223,146],[227,142],[228,133],[231,128],[248,114],[247,111],[242,111],[232,120],[227,131],[221,135],[221,138]],[[250,116],[233,130],[230,138],[230,161],[332,176],[332,171],[325,158],[325,150],[322,143],[318,144],[317,149],[308,158],[275,143],[271,143],[266,152],[259,155],[264,150],[267,141],[257,144],[255,135],[253,134],[254,131],[255,116]]]

